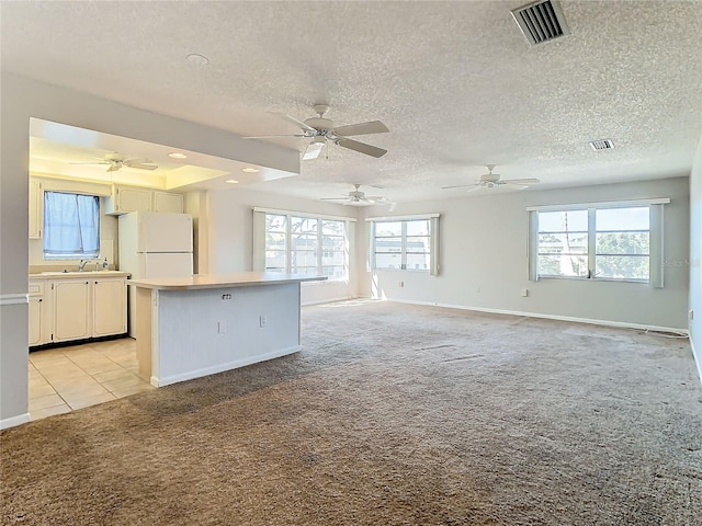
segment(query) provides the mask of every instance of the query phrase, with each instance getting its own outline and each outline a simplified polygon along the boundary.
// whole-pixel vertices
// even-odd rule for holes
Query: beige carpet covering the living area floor
[[[303,345],[2,432],[2,524],[702,524],[684,340],[347,302]]]

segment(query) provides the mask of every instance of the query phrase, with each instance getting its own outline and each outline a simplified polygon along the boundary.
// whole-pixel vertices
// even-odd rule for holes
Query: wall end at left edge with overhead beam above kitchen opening
[[[299,153],[2,71],[0,85],[0,427],[27,416],[30,118],[290,172]]]

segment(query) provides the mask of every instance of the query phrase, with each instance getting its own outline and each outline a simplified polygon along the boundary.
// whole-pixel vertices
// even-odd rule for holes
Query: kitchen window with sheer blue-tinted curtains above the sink
[[[100,198],[44,192],[44,259],[81,260],[100,255]]]

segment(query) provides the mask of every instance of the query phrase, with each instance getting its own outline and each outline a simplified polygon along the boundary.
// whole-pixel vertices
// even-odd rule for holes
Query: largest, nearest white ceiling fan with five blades
[[[305,152],[303,153],[303,160],[317,159],[321,153],[322,148],[328,142],[333,142],[342,148],[348,148],[360,153],[365,153],[371,157],[383,157],[387,153],[387,150],[377,148],[375,146],[366,145],[358,140],[350,139],[355,135],[371,135],[371,134],[384,134],[389,132],[380,121],[371,121],[370,123],[349,124],[346,126],[337,126],[333,121],[326,118],[325,114],[329,111],[329,106],[326,104],[315,104],[315,112],[317,117],[307,118],[305,121],[298,121],[295,117],[285,115],[284,113],[275,113],[284,119],[301,127],[301,134],[288,135],[262,135],[257,137],[242,137],[245,139],[267,139],[272,137],[307,137],[313,140],[307,145]]]

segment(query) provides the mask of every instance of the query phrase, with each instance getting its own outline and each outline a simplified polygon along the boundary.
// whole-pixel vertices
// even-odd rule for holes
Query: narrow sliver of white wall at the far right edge
[[[702,140],[690,175],[690,342],[702,380]]]

